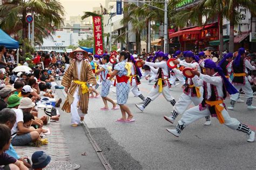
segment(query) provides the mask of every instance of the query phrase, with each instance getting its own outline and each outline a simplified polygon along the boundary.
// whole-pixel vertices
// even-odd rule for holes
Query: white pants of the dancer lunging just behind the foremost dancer
[[[203,88],[200,88],[200,89],[203,89]],[[201,93],[201,94],[203,94],[203,93]],[[201,95],[200,98],[198,98],[198,97],[191,97],[191,96],[188,96],[185,93],[182,93],[179,97],[179,100],[174,105],[173,110],[176,111],[179,114],[183,114],[187,110],[187,107],[192,102],[195,106],[197,106],[201,103],[202,100],[203,100],[202,95]]]

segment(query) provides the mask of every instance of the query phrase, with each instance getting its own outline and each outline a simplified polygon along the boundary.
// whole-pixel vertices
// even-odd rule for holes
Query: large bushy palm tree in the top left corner
[[[63,23],[64,8],[57,0],[16,0],[6,2],[0,6],[0,17],[2,19],[0,26],[9,33],[17,33],[22,30],[22,41],[27,38],[28,24],[26,16],[29,13],[34,14],[35,33],[38,32],[39,38],[49,36],[46,33],[46,27],[50,24],[59,26]],[[40,23],[38,22],[40,21]],[[23,43],[23,55],[25,54],[25,44]]]

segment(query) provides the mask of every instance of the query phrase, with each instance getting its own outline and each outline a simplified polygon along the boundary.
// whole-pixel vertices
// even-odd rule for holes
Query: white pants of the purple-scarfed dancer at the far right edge
[[[245,97],[247,99],[253,97],[252,87],[247,77],[245,77],[245,85],[233,85],[233,86],[235,87],[235,89],[237,89],[237,91],[242,89],[242,91],[245,92]],[[230,97],[231,100],[235,100],[235,101],[237,101],[238,98],[239,98],[239,92],[232,94]]]

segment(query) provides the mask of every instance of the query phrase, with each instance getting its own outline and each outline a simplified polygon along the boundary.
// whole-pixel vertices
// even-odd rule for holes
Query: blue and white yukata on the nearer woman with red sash
[[[122,77],[127,75],[127,70],[125,69],[126,62],[122,61],[114,66],[114,70],[117,70],[118,73],[116,77]],[[129,79],[129,78],[128,78]],[[130,92],[130,82],[127,80],[126,82],[116,83],[117,89],[117,104],[124,105],[127,102],[129,92]]]

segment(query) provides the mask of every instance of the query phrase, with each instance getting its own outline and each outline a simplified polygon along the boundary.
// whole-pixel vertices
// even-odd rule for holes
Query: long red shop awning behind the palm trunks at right
[[[174,33],[170,34],[169,38],[179,37],[179,36],[182,36],[182,35],[185,35],[185,34],[199,34],[201,32],[201,30],[212,28],[215,25],[216,24],[208,24],[208,25],[205,25],[205,26],[197,26],[197,27],[191,28],[191,29],[180,30],[178,32],[174,32]]]

